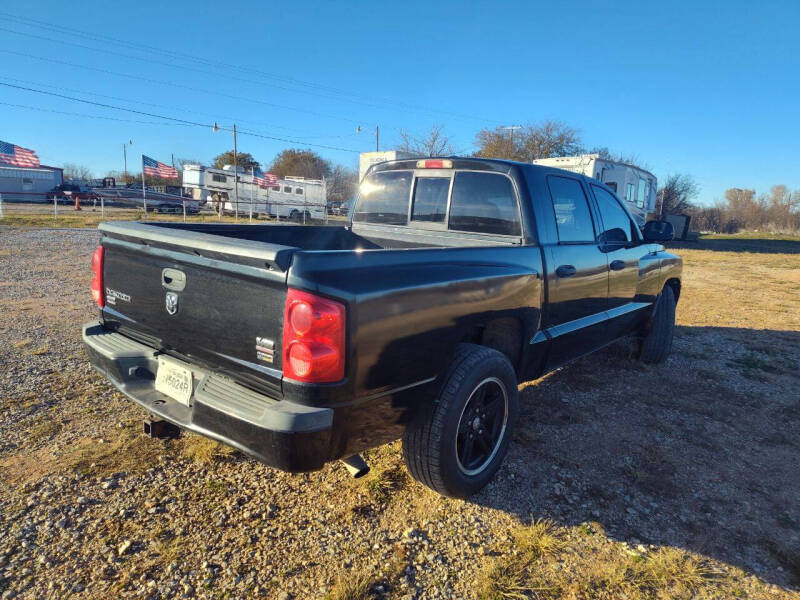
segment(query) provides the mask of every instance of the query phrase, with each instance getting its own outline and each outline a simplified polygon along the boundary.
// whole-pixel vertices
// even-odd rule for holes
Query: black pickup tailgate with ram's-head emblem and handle
[[[106,327],[280,397],[295,248],[141,223],[100,230]]]

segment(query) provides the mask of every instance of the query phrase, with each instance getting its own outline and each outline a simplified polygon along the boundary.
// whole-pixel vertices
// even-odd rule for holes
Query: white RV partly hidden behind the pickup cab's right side
[[[556,167],[602,181],[625,201],[639,226],[656,210],[656,176],[635,165],[600,158],[599,154],[540,158],[535,165]]]

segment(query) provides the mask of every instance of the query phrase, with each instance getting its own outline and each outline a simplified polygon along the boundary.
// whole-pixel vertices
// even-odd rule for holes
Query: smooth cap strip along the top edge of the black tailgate
[[[282,271],[288,268],[291,256],[297,250],[294,246],[241,240],[214,235],[213,233],[164,227],[157,224],[150,225],[135,222],[100,223],[97,229],[112,236],[124,236],[168,246],[263,260]]]

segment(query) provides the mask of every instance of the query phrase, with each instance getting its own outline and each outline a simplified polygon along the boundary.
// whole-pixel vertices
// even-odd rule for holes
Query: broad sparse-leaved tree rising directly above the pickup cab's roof
[[[520,131],[503,127],[481,129],[475,135],[475,144],[478,146],[475,156],[521,162],[571,156],[583,150],[578,131],[561,121],[528,124]]]

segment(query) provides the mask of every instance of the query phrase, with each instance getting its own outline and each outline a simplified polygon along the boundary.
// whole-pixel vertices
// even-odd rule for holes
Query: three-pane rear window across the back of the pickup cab
[[[378,171],[361,183],[353,221],[519,236],[519,203],[499,173]]]

